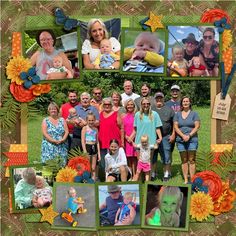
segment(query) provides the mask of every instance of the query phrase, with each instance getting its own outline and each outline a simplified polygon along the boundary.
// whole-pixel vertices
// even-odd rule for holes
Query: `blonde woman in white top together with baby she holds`
[[[107,68],[119,69],[119,41],[114,37],[109,38],[106,26],[100,19],[91,19],[88,22],[87,39],[83,42],[82,45],[84,68],[101,69],[101,66],[95,66],[95,61],[97,62],[99,60],[98,57],[100,57],[101,54],[106,54],[106,57],[109,57],[110,65],[106,65]],[[111,62],[111,57],[114,58],[113,63]]]

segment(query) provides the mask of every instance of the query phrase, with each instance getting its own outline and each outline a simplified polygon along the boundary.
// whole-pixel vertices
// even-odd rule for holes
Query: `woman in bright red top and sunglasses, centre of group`
[[[100,180],[105,180],[105,155],[110,147],[110,141],[116,139],[121,145],[121,118],[117,111],[114,111],[111,98],[104,98],[102,111],[100,113],[100,125],[98,139],[101,149]],[[123,145],[122,145],[123,146]]]

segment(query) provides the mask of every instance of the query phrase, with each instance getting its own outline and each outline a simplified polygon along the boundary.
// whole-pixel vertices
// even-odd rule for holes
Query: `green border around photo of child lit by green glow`
[[[168,227],[168,226],[152,226],[152,225],[146,225],[145,224],[145,215],[146,215],[146,203],[147,203],[147,188],[148,185],[162,185],[162,186],[176,186],[176,187],[186,187],[188,188],[188,198],[187,198],[187,205],[186,205],[186,220],[185,220],[185,227],[179,228],[179,227]],[[144,229],[155,229],[155,230],[176,230],[176,231],[188,231],[189,230],[189,223],[190,223],[190,198],[191,198],[191,184],[174,184],[174,183],[168,183],[168,182],[161,182],[161,181],[147,181],[144,183],[144,193],[143,193],[143,202],[145,203],[143,206],[143,214],[142,214],[142,221],[141,221],[141,227]]]

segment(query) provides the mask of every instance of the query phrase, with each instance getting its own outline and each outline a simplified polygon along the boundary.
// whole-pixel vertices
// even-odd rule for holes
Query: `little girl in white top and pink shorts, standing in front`
[[[134,144],[137,149],[138,165],[133,181],[137,181],[139,179],[141,172],[144,172],[145,180],[149,181],[151,170],[151,152],[153,149],[157,149],[157,144],[149,145],[147,135],[142,135],[140,141],[141,144]]]

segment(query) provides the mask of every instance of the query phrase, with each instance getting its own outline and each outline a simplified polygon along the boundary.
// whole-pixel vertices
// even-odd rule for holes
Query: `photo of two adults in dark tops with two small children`
[[[213,26],[168,26],[167,76],[218,77],[219,33]]]

